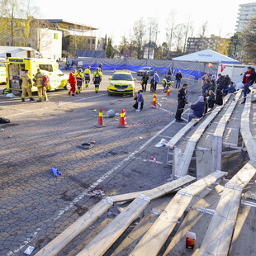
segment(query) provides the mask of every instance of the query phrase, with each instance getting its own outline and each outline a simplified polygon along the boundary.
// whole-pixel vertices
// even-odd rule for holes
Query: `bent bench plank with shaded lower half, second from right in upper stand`
[[[235,106],[241,96],[241,90],[235,95],[234,101],[230,103],[230,106],[225,111],[224,115],[221,117],[219,124],[216,127],[216,130],[213,135],[212,140],[212,158],[211,158],[211,168],[212,171],[219,170],[221,171],[221,159],[222,159],[222,138],[225,131],[225,126],[230,121],[230,117],[235,109]]]

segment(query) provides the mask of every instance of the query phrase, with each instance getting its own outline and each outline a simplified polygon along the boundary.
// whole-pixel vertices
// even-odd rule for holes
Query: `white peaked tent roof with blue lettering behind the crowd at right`
[[[242,64],[241,61],[231,59],[230,57],[227,57],[225,55],[220,55],[214,50],[201,50],[197,51],[196,53],[173,58],[173,60]]]

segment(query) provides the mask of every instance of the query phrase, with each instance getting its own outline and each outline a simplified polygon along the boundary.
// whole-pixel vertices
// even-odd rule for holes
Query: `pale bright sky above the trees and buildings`
[[[90,4],[88,4],[88,2]],[[235,22],[239,4],[256,2],[249,0],[31,0],[40,7],[41,18],[64,19],[99,28],[97,36],[111,36],[117,45],[121,36],[129,37],[135,21],[140,17],[154,17],[159,22],[159,43],[165,40],[168,13],[175,12],[177,22],[191,17],[195,36],[201,24],[208,21],[206,36],[231,36],[235,32]]]

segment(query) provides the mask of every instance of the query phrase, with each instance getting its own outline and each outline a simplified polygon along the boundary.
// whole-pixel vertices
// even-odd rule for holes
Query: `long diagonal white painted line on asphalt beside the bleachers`
[[[183,113],[186,113],[189,109],[187,109],[186,111],[184,111]],[[142,149],[145,149],[145,147],[147,145],[149,145],[155,138],[157,138],[164,130],[168,129],[168,127],[172,126],[173,123],[175,122],[175,120],[171,121],[167,126],[164,126],[164,128],[162,130],[159,130],[159,132],[157,134],[155,134],[154,136],[152,136],[149,140],[147,140],[145,142],[145,144],[141,145],[139,149],[136,149],[133,153],[131,153],[130,155],[128,155],[126,157],[126,159],[123,159],[119,164],[116,164],[116,166],[114,168],[111,168],[110,171],[108,171],[107,173],[105,173],[101,178],[98,178],[97,181],[95,183],[92,183],[92,185],[90,187],[88,187],[87,189],[85,189],[80,195],[78,195],[78,197],[75,197],[73,199],[73,201],[71,201],[69,203],[69,206],[64,207],[63,209],[61,209],[57,215],[53,218],[53,219],[48,219],[45,220],[45,223],[53,221],[53,220],[58,220],[61,216],[64,215],[64,213],[66,211],[69,211],[78,201],[82,200],[83,197],[90,195],[89,192],[92,191],[95,187],[97,187],[100,183],[102,183],[103,181],[105,181],[112,173],[115,173],[116,170],[118,168],[121,168],[121,166],[123,166],[124,164],[126,164],[126,162],[130,161],[130,160],[134,160],[136,159],[136,154],[138,154]],[[39,229],[37,230],[42,230],[43,226],[41,226]],[[35,231],[34,233],[32,233],[32,235],[30,237],[32,237],[32,239],[36,238],[36,236],[38,235],[38,231]],[[7,253],[7,256],[11,256],[13,254],[16,254],[18,252],[21,251],[21,249],[24,248],[24,246],[26,246],[27,242],[26,241],[31,241],[30,238],[27,238],[20,246],[18,249],[14,249],[12,251],[9,251]]]

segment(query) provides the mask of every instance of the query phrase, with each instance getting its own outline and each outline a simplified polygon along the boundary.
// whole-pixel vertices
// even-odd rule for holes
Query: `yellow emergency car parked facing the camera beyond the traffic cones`
[[[108,95],[113,94],[128,94],[134,96],[135,94],[135,81],[129,72],[115,72],[112,77],[109,78],[109,85],[107,88]]]

